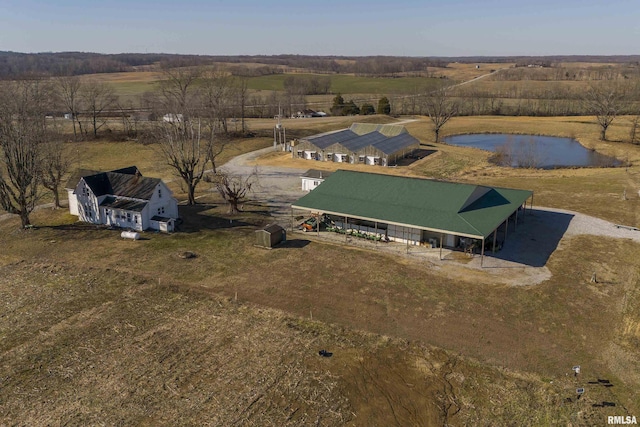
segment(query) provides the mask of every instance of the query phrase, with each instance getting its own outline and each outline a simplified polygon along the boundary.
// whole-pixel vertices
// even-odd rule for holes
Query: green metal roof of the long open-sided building
[[[486,238],[529,190],[338,170],[293,208]]]

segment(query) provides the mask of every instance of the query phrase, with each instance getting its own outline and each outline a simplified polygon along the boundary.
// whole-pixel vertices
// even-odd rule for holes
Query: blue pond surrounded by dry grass
[[[500,166],[554,169],[562,167],[612,167],[621,162],[589,150],[572,138],[513,134],[455,135],[447,144],[493,151],[492,162]]]

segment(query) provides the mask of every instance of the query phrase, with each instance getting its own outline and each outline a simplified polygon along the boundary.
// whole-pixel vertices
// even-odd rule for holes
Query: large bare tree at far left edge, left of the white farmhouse
[[[0,87],[0,206],[20,216],[22,228],[39,198],[45,113],[51,93],[38,81]]]

